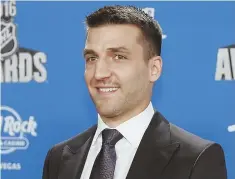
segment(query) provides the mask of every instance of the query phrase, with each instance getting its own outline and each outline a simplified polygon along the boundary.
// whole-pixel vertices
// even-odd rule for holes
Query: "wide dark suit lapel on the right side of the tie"
[[[178,147],[178,142],[171,141],[169,122],[159,112],[155,112],[126,179],[160,179]]]

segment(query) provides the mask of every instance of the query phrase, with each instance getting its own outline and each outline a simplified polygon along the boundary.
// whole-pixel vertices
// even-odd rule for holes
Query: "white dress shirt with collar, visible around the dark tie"
[[[140,141],[149,126],[153,114],[154,109],[152,103],[150,102],[148,107],[143,112],[115,128],[123,135],[123,138],[115,145],[117,161],[114,179],[125,179],[127,177],[132,160],[135,156]],[[101,132],[106,128],[110,129],[110,127],[108,127],[98,115],[97,130],[88,152],[81,179],[89,179],[90,177],[93,164],[102,146]]]

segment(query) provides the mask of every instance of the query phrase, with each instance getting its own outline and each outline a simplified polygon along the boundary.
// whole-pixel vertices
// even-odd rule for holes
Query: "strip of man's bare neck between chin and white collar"
[[[102,120],[107,126],[111,128],[115,128],[119,126],[120,124],[124,123],[125,121],[128,121],[129,119],[143,112],[148,107],[149,103],[150,101],[146,101],[142,105],[137,106],[134,109],[119,113],[114,117],[105,117],[105,116],[100,116],[100,117],[102,118]]]

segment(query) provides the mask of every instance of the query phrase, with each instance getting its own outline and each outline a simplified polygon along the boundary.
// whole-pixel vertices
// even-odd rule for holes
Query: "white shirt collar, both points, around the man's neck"
[[[133,147],[138,148],[140,141],[153,117],[153,114],[154,108],[150,102],[144,111],[120,124],[115,129],[117,129]],[[110,129],[110,127],[103,122],[100,115],[98,114],[98,125],[92,145],[96,144],[97,139],[101,135],[101,132],[106,128]]]

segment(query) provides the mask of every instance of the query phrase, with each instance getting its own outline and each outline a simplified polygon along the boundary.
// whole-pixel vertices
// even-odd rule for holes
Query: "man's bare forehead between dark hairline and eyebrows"
[[[134,25],[103,25],[89,28],[85,48],[105,50],[124,46],[132,49],[140,45],[141,31]]]

